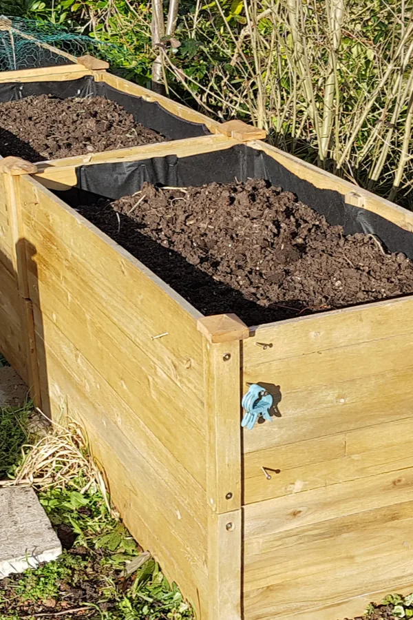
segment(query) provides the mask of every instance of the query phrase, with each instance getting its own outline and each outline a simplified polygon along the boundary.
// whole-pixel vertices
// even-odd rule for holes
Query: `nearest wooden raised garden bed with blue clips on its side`
[[[233,307],[203,316],[78,211],[145,180],[266,178],[410,258],[413,214],[262,142],[205,140],[31,176],[5,162],[34,395],[85,424],[125,523],[198,618],[352,617],[413,586],[413,297],[248,328]],[[272,422],[242,430],[248,384]]]

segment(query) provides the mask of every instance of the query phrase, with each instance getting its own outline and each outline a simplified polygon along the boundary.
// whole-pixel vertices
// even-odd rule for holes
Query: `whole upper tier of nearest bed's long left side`
[[[89,361],[204,485],[202,338],[194,318],[149,270],[76,211],[42,188],[40,204],[33,205],[30,185],[22,189],[25,239],[33,254],[30,296],[56,315]],[[154,312],[153,304],[162,311]],[[153,340],[159,334],[167,335]]]

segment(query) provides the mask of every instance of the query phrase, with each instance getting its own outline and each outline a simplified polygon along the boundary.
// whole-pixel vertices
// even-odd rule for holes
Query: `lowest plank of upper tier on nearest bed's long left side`
[[[59,262],[51,265],[41,253],[34,258],[36,263],[32,261],[29,267],[30,296],[43,317],[50,318],[105,378],[123,406],[136,411],[172,453],[180,451],[182,464],[205,487],[207,424],[203,415],[187,415],[187,411],[202,411],[200,395],[189,388],[184,391],[183,385],[160,372],[156,362],[105,313],[105,307],[94,303],[87,276],[79,280],[67,270],[63,283]],[[131,321],[129,328],[134,329]]]

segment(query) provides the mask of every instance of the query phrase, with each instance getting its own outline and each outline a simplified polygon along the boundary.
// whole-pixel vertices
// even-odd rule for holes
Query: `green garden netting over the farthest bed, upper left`
[[[102,58],[113,47],[51,23],[0,16],[0,71],[67,65],[85,54]]]

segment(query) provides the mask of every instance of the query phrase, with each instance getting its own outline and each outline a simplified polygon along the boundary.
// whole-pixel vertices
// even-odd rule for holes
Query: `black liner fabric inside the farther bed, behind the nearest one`
[[[168,140],[197,138],[211,133],[205,125],[179,118],[165,110],[159,103],[145,101],[142,97],[117,90],[105,82],[95,82],[92,75],[68,81],[0,83],[0,103],[40,94],[52,94],[61,99],[104,96],[122,105],[136,121],[162,134]]]

